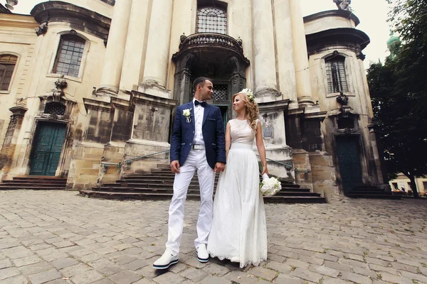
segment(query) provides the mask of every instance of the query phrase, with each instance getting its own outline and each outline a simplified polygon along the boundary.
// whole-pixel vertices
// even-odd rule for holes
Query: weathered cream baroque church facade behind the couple
[[[362,50],[341,9],[298,0],[68,0],[0,7],[1,180],[80,190],[169,164],[176,105],[210,77],[224,124],[251,88],[270,173],[315,192],[383,185]],[[254,148],[255,149],[255,148]]]

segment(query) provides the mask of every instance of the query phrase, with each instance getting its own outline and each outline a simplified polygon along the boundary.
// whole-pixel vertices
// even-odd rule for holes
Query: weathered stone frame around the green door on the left
[[[56,177],[60,177],[63,176],[63,168],[65,165],[65,158],[66,158],[66,154],[65,151],[66,149],[66,145],[68,142],[68,135],[70,133],[70,122],[69,121],[65,121],[62,119],[58,119],[58,120],[53,120],[53,119],[46,119],[44,117],[36,117],[36,119],[34,119],[34,123],[33,123],[33,127],[31,129],[31,137],[29,138],[29,143],[28,143],[28,147],[27,147],[27,163],[26,163],[26,175],[29,175],[31,172],[31,159],[33,158],[33,153],[34,151],[36,151],[36,134],[38,134],[37,131],[39,131],[39,125],[40,124],[65,124],[65,136],[64,136],[64,141],[63,141],[63,145],[62,145],[62,149],[60,151],[60,156],[59,156],[59,161],[58,161],[58,168],[56,168]]]

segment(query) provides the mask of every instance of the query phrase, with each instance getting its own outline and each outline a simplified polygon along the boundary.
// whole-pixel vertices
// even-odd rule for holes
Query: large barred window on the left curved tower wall
[[[78,77],[85,40],[77,35],[61,35],[53,73]]]

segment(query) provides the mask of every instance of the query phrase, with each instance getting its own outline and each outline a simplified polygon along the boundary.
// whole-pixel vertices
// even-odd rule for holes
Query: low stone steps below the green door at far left
[[[13,180],[3,180],[0,190],[65,190],[66,178],[46,175],[22,175]]]

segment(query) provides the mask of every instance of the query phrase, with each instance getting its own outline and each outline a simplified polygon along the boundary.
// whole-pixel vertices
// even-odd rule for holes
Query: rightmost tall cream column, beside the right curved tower
[[[290,23],[292,26],[292,43],[295,60],[295,78],[297,82],[298,103],[302,106],[312,105],[310,70],[305,40],[304,19],[302,18],[300,0],[289,0]]]

